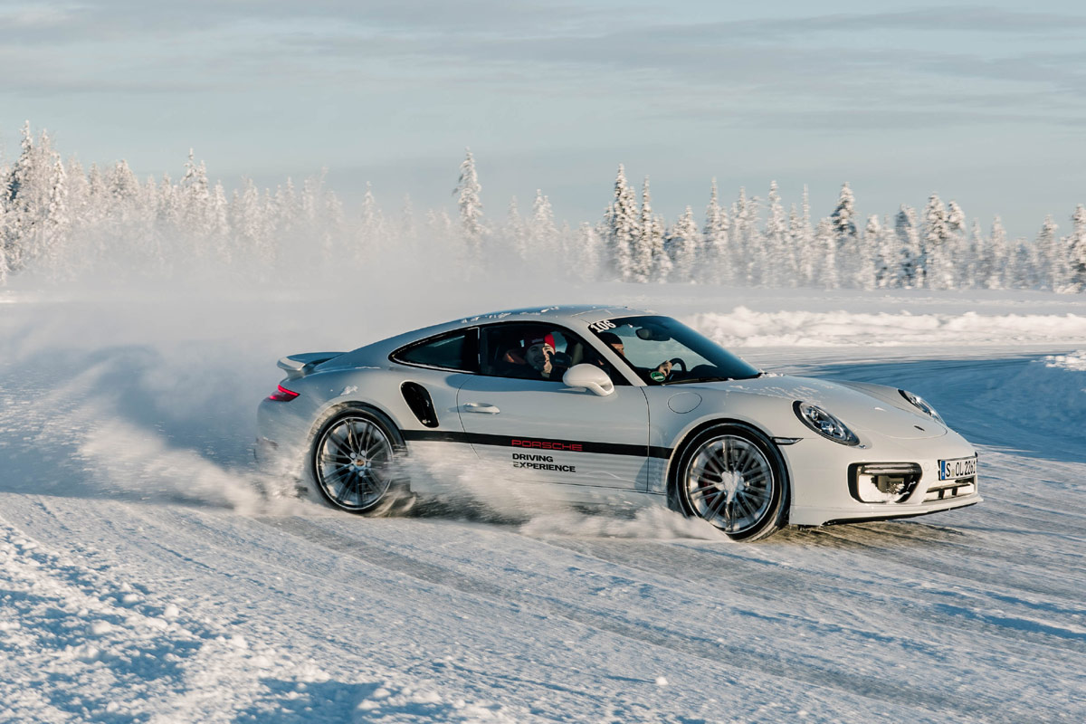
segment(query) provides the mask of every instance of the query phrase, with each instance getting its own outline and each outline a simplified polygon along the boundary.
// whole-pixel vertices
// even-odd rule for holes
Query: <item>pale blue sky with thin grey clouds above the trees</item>
[[[937,191],[1062,230],[1086,202],[1075,2],[0,0],[0,138],[29,118],[85,163],[275,185],[329,169],[387,212],[452,204],[469,145],[488,215],[536,188],[595,220],[619,163],[673,219],[711,177],[826,215]]]

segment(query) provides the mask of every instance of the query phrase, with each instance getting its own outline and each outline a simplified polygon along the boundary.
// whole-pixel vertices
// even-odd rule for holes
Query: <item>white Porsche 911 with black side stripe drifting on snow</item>
[[[481,315],[279,367],[258,457],[296,459],[351,512],[446,490],[403,462],[454,449],[541,498],[655,501],[734,539],[981,501],[973,446],[917,395],[768,376],[628,307]]]

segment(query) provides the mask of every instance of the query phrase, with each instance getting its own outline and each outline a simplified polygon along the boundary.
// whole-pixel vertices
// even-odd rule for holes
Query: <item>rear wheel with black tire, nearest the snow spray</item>
[[[329,417],[313,435],[306,467],[314,487],[331,507],[387,516],[413,500],[403,475],[405,454],[403,435],[387,416],[350,406]]]

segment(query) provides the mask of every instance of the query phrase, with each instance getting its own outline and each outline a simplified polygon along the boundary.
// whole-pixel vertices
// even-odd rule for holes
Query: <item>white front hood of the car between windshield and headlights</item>
[[[870,432],[898,440],[939,437],[947,429],[919,410],[913,412],[886,399],[837,382],[804,377],[765,376],[752,380],[674,385],[675,393],[697,392],[703,396],[750,394],[801,401],[818,405],[857,432]],[[887,388],[887,390],[891,390]],[[894,391],[896,395],[896,391]]]

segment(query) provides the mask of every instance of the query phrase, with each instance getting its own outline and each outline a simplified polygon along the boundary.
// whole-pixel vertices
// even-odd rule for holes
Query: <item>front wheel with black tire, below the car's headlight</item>
[[[765,538],[787,524],[784,459],[749,425],[712,425],[683,445],[669,499],[683,515],[707,521],[733,541]]]

